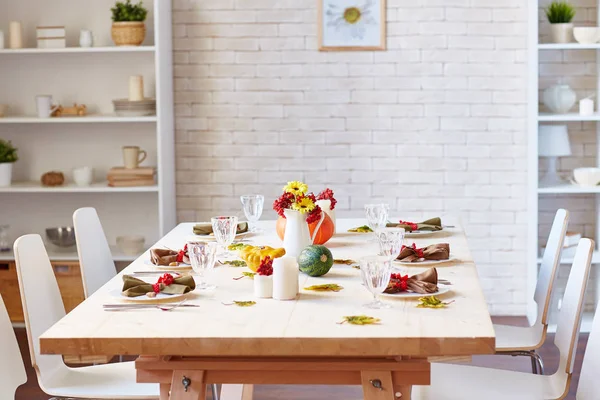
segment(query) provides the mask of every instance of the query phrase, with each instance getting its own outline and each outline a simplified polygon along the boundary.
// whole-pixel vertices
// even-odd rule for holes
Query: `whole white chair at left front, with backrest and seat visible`
[[[31,364],[50,396],[82,399],[157,399],[158,384],[136,383],[132,362],[69,368],[59,355],[42,355],[39,337],[65,316],[56,278],[39,235],[14,245]]]

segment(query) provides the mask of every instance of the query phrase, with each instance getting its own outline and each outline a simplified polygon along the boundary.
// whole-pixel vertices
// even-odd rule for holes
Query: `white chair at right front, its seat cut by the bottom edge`
[[[560,365],[554,375],[433,363],[431,386],[413,386],[412,400],[563,399],[569,392],[573,374],[593,249],[594,242],[590,239],[582,239],[577,246],[554,338],[560,352]],[[597,360],[589,363],[598,365]],[[588,399],[597,400],[598,396],[595,392]]]

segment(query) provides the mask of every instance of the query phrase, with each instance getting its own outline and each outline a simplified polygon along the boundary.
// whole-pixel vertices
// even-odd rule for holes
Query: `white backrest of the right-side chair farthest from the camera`
[[[567,233],[569,224],[569,212],[564,209],[556,211],[554,222],[550,229],[542,264],[538,274],[537,285],[535,287],[534,300],[537,304],[536,324],[548,324],[548,311],[550,309],[550,300],[552,298],[552,288],[554,280],[558,274],[560,266],[560,255],[562,253],[563,242]]]

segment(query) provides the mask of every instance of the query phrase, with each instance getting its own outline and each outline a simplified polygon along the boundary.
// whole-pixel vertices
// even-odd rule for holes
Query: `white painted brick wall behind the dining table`
[[[320,53],[315,0],[174,0],[180,220],[330,186],[338,215],[459,214],[491,311],[526,303],[527,1],[388,0],[388,50]]]

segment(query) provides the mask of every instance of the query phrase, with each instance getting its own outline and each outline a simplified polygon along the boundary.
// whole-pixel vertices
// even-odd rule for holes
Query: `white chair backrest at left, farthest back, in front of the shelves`
[[[115,262],[96,209],[80,208],[73,214],[79,265],[85,297],[91,296],[116,274]]]

